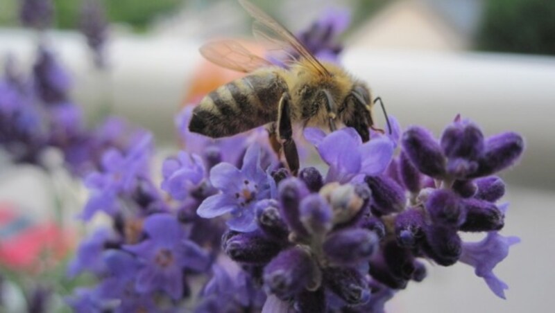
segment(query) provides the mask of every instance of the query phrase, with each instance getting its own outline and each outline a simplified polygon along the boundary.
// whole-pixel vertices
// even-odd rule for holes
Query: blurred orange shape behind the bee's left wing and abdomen
[[[253,54],[264,56],[265,49],[262,45],[257,44],[257,42],[245,39],[238,39],[237,42],[240,42],[248,51],[253,52]],[[191,84],[189,84],[185,99],[182,102],[182,107],[190,105],[191,103],[196,104],[200,102],[210,91],[223,84],[236,80],[237,78],[241,78],[244,75],[246,75],[246,73],[225,69],[203,58],[194,70]]]

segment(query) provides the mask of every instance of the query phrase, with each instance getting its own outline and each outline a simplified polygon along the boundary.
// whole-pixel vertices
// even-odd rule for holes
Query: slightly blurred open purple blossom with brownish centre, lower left
[[[144,221],[148,239],[123,248],[135,253],[143,267],[137,273],[137,292],[162,290],[173,299],[183,295],[183,269],[203,271],[208,257],[194,242],[187,240],[174,217],[155,214]]]

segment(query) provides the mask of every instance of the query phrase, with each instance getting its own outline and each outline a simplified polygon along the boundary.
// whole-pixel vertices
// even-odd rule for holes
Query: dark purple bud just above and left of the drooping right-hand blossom
[[[454,265],[462,252],[462,241],[456,229],[444,226],[428,227],[422,249],[438,265]]]

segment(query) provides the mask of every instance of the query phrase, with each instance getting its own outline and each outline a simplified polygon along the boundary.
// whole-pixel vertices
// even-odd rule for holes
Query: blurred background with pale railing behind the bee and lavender
[[[555,305],[547,294],[555,284],[555,1],[252,1],[293,33],[329,10],[344,11],[350,24],[339,38],[341,63],[370,84],[402,126],[424,125],[438,136],[461,114],[487,135],[513,130],[526,139],[520,166],[504,176],[511,202],[504,233],[522,238],[496,269],[511,286],[508,300],[490,294],[469,267],[434,267],[424,283],[400,292],[389,312],[549,311]],[[228,0],[102,2],[110,26],[99,70],[79,32],[81,1],[53,1],[53,29],[45,37],[71,75],[74,102],[90,125],[108,107],[153,130],[158,146],[175,146],[174,116],[214,80],[205,75],[214,68],[198,47],[218,37],[251,38],[250,17]],[[26,71],[37,35],[21,27],[20,4],[0,0],[0,66],[10,55]],[[221,72],[218,83],[232,78]],[[42,214],[51,199],[33,185],[40,174],[30,168],[10,173],[0,175],[0,204]]]

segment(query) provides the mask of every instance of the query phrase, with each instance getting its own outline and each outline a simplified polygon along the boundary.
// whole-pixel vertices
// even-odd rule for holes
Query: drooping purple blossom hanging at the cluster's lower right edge
[[[493,268],[509,255],[509,247],[518,244],[520,238],[504,237],[497,231],[490,231],[480,242],[463,243],[459,261],[475,268],[477,276],[484,278],[491,291],[499,298],[505,298],[505,289],[509,289],[502,280],[493,274]]]

